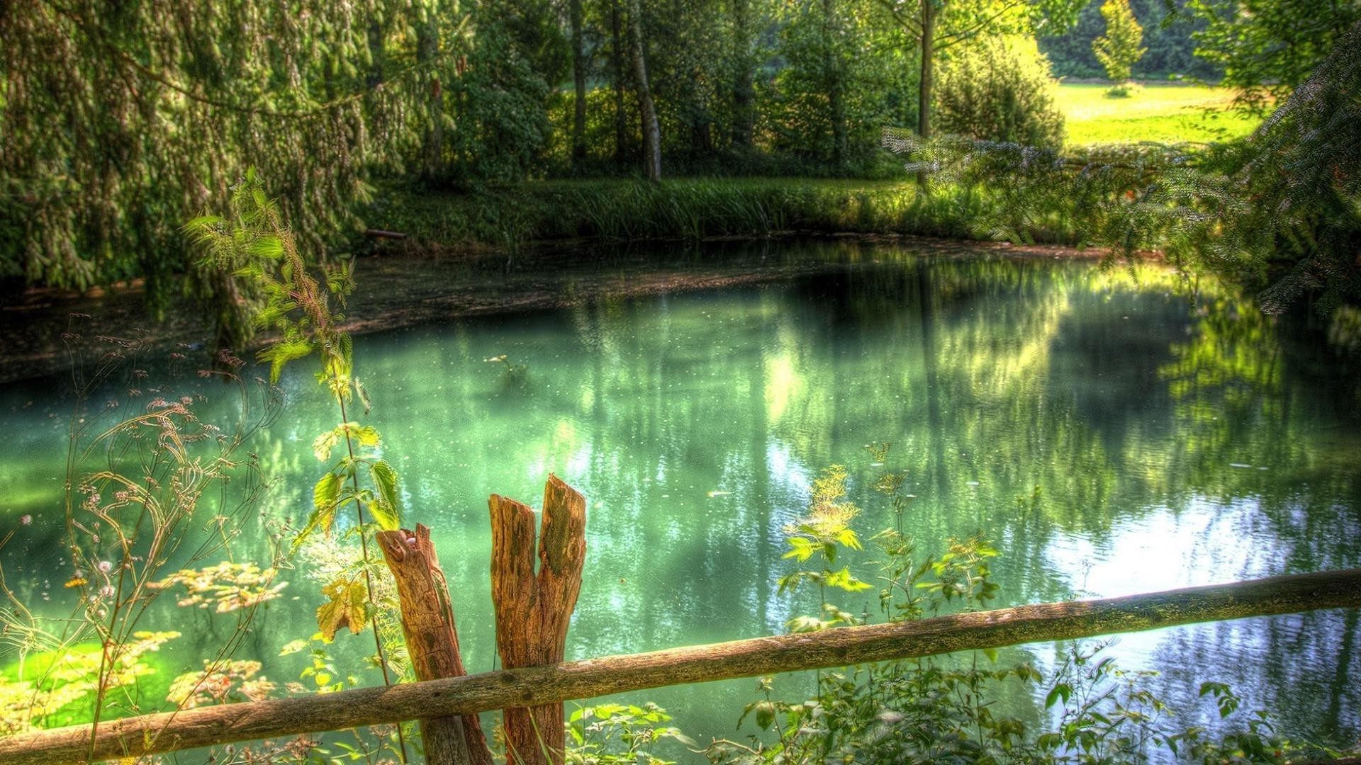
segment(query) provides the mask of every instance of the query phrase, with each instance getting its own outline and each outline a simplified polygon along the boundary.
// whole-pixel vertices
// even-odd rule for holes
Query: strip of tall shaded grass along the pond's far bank
[[[365,218],[430,249],[780,231],[974,238],[973,221],[985,204],[979,191],[924,195],[911,180],[539,181],[472,193],[388,189]],[[1066,244],[1071,235],[1055,222],[1036,240]]]

